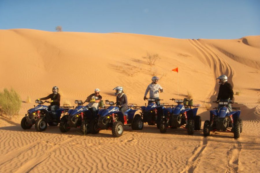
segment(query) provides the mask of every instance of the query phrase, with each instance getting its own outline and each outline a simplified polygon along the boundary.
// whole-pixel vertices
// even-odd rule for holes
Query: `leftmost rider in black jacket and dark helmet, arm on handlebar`
[[[47,100],[51,99],[51,112],[53,115],[56,114],[55,110],[57,110],[60,107],[60,94],[59,88],[57,86],[52,87],[52,94],[48,95],[47,97],[42,97],[38,100]]]

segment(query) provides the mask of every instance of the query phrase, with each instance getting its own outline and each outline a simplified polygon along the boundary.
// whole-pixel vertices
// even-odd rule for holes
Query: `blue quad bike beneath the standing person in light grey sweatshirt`
[[[150,103],[146,106],[141,106],[142,109],[142,117],[145,123],[148,125],[155,125],[157,128],[160,128],[160,120],[161,116],[163,115],[164,106],[157,105],[155,102],[163,100],[163,99],[156,99],[156,98],[147,98]]]

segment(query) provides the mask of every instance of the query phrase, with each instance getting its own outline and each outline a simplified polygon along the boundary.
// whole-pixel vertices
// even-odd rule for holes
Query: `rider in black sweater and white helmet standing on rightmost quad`
[[[217,101],[227,101],[232,103],[233,100],[233,87],[227,82],[227,76],[221,75],[217,78],[219,86]],[[231,104],[228,105],[229,111],[232,111]]]

